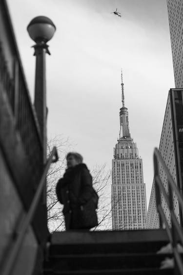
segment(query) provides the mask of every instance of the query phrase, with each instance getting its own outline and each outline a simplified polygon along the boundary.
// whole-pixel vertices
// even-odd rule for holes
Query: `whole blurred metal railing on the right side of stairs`
[[[163,228],[163,224],[165,225],[165,229],[167,231],[167,235],[169,237],[170,243],[172,245],[173,254],[174,254],[174,262],[175,262],[175,274],[183,275],[183,261],[180,253],[178,252],[177,244],[178,239],[183,245],[183,230],[180,227],[179,221],[174,213],[174,201],[173,201],[173,192],[176,194],[179,204],[179,209],[183,209],[183,197],[174,183],[172,176],[169,173],[169,170],[166,167],[166,164],[160,155],[157,148],[154,150],[154,179],[155,179],[155,192],[156,192],[156,207],[160,216],[160,227]],[[168,184],[168,193],[166,192],[163,182],[159,176],[159,164],[162,165],[163,171],[167,176],[167,184]],[[170,211],[170,225],[167,222],[166,216],[162,207],[161,196],[165,199],[167,206]]]

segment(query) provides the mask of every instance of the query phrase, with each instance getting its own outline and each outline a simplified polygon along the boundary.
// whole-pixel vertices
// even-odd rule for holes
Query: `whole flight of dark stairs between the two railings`
[[[172,255],[156,253],[168,242],[163,229],[55,232],[44,275],[173,275],[160,269]]]

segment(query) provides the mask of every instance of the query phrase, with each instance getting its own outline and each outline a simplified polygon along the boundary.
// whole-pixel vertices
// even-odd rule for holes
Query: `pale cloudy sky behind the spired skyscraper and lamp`
[[[147,206],[153,150],[174,88],[166,0],[7,0],[31,98],[35,57],[26,27],[36,16],[56,25],[46,56],[48,138],[69,138],[92,169],[110,169],[120,129],[121,68],[130,133],[143,160]],[[122,17],[111,14],[118,8]]]

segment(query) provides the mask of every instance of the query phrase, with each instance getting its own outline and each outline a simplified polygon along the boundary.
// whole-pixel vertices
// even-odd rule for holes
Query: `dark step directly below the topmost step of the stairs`
[[[110,254],[70,254],[51,256],[45,268],[57,271],[74,270],[111,270],[133,268],[160,268],[165,257],[171,254],[154,253],[110,253]]]

